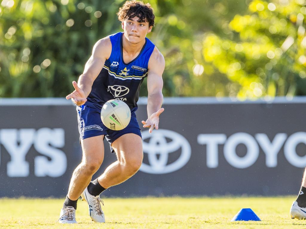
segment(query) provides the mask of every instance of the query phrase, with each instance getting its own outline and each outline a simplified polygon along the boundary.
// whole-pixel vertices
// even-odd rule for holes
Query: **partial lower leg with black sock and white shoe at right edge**
[[[297,195],[296,201],[291,206],[290,215],[293,219],[306,219],[306,168],[304,170],[300,192]]]

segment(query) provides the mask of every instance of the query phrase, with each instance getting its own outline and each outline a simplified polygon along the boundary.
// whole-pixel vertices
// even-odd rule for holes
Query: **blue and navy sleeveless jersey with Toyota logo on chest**
[[[140,85],[148,73],[148,62],[155,45],[145,38],[139,55],[130,63],[124,63],[122,53],[123,32],[110,35],[112,52],[110,58],[95,79],[85,105],[101,109],[110,99],[128,104],[132,112],[137,110]]]

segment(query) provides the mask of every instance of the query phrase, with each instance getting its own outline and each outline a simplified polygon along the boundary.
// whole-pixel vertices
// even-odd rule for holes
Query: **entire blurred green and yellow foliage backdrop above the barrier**
[[[0,97],[61,97],[124,1],[0,0]],[[306,0],[152,0],[164,96],[306,94]],[[146,82],[141,96],[145,96]]]

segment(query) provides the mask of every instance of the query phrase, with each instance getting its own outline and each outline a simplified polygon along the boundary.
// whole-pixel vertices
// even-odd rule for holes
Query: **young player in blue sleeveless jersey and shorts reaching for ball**
[[[74,91],[66,96],[77,106],[80,142],[83,158],[73,172],[69,191],[60,213],[60,223],[76,223],[76,202],[80,195],[88,203],[89,215],[95,222],[105,222],[99,198],[107,188],[120,184],[133,176],[142,163],[141,132],[135,111],[140,84],[147,77],[147,115],[142,121],[149,132],[158,129],[162,105],[162,73],[165,60],[155,45],[146,38],[154,26],[154,13],[150,4],[126,1],[119,9],[118,19],[124,32],[99,40],[87,61]],[[100,118],[103,104],[120,99],[131,109],[129,125],[119,131],[107,129]],[[117,161],[104,173],[91,181],[92,175],[103,162],[104,137],[116,153]]]

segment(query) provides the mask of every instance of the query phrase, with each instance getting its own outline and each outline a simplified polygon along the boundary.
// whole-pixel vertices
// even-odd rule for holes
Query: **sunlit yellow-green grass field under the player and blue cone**
[[[64,199],[2,198],[0,228],[306,228],[306,220],[289,215],[295,198],[104,198],[105,224],[93,223],[79,200],[72,225],[55,223]],[[262,221],[231,222],[241,208]]]

